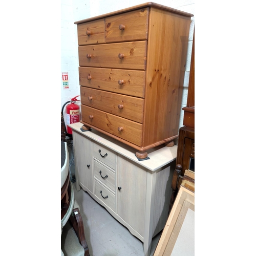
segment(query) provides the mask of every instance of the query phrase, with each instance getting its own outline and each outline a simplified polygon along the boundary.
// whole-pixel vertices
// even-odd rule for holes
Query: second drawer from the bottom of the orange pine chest
[[[92,108],[143,122],[144,99],[80,87],[81,103]]]

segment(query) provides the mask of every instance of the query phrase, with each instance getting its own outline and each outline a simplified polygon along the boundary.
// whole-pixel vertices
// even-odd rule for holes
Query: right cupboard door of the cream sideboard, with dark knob
[[[146,168],[118,155],[117,214],[142,237],[146,202]]]

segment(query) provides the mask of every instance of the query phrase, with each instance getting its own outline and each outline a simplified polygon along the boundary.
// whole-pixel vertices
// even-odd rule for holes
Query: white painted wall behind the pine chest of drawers
[[[172,7],[195,15],[195,0],[157,0],[157,4]],[[61,105],[60,110],[71,98],[80,95],[78,74],[78,49],[77,49],[77,20],[86,19],[105,13],[121,10],[135,5],[146,3],[145,0],[61,0],[61,72],[68,72],[69,89],[63,89],[62,75],[60,74]],[[191,18],[188,53],[186,61],[186,72],[182,104],[186,106],[187,87],[189,80],[189,69],[191,60],[191,48],[194,32],[194,20]],[[78,97],[80,99],[80,97]],[[80,102],[78,102],[80,104]],[[180,127],[183,126],[183,111],[181,110]]]

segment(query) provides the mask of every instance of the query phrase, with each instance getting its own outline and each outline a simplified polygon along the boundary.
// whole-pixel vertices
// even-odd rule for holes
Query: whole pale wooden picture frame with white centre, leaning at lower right
[[[154,256],[195,254],[195,193],[181,185]]]

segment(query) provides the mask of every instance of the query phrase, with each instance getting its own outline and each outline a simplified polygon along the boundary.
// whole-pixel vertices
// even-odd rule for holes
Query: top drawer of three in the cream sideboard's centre
[[[96,142],[93,143],[93,156],[98,159],[105,165],[112,168],[114,171],[116,169],[116,153],[110,148],[103,146],[102,144],[98,144]],[[114,189],[113,189],[114,190]]]

